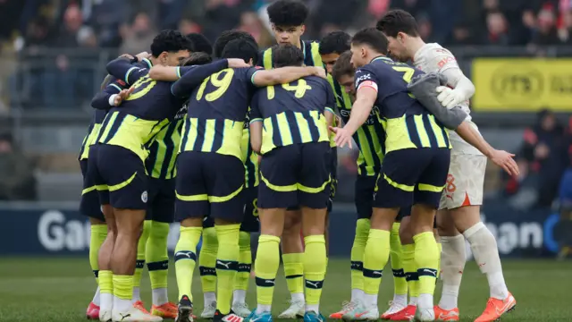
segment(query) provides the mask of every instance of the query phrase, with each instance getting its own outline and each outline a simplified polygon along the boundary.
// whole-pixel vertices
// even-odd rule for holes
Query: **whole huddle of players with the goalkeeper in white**
[[[278,45],[262,52],[239,30],[224,31],[213,47],[202,35],[164,30],[150,54],[107,64],[80,152],[80,209],[91,221],[98,283],[88,318],[192,321],[198,260],[201,318],[270,322],[282,242],[291,301],[279,318],[324,321],[336,147],[352,142],[359,157],[351,299],[330,318],[457,321],[466,239],[491,289],[475,321],[514,309],[479,207],[487,157],[509,174],[517,168],[471,122],[475,88],[454,56],[425,44],[400,10],[353,38],[335,31],[320,42],[300,39],[305,4],[279,0],[267,12]],[[401,63],[409,60],[416,68]],[[167,296],[173,221],[181,223],[178,303]],[[257,308],[250,310],[250,233],[258,231]],[[389,258],[395,292],[380,316]],[[146,263],[150,311],[139,296]],[[442,297],[433,306],[438,275]]]

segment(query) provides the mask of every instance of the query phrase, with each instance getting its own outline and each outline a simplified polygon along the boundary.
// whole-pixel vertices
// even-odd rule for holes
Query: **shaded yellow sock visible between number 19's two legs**
[[[203,245],[198,255],[198,271],[203,293],[216,292],[216,252],[218,240],[214,227],[203,230]]]

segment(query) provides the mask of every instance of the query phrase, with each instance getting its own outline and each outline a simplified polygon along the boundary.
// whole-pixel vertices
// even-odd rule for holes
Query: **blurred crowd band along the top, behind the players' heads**
[[[146,49],[156,30],[252,33],[273,38],[265,17],[272,0],[0,0],[4,46]],[[421,36],[442,45],[572,44],[569,0],[307,0],[306,38],[371,25],[388,8],[413,13]],[[12,44],[12,45],[10,45]]]

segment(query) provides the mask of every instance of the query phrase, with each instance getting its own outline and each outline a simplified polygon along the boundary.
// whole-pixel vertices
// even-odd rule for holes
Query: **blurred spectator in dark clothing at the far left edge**
[[[0,200],[36,199],[34,167],[13,147],[10,134],[0,134]]]

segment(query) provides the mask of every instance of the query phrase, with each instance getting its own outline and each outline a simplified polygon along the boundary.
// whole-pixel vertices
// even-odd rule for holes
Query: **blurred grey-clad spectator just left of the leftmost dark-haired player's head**
[[[119,51],[131,55],[148,52],[155,36],[156,30],[153,29],[147,13],[137,13],[130,26],[122,27],[123,43]]]

